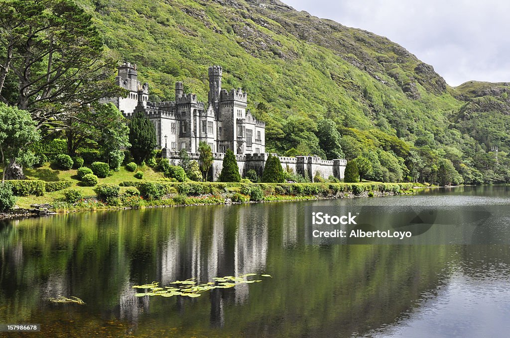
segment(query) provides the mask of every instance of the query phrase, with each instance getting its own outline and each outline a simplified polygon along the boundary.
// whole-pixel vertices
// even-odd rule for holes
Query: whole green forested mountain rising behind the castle
[[[362,156],[373,180],[510,181],[507,83],[451,88],[387,38],[277,0],[78,3],[151,100],[173,99],[176,80],[206,100],[207,68],[221,65],[223,87],[246,90],[267,123],[270,151]]]

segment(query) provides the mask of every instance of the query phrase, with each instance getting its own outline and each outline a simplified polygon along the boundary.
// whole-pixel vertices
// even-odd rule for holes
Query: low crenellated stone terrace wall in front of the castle
[[[161,155],[167,157],[170,163],[177,165],[180,157],[178,152],[166,151],[163,149]],[[190,158],[198,161],[198,153],[189,153]],[[214,153],[214,161],[211,167],[209,176],[216,181],[223,168],[223,158],[225,154]],[[264,166],[266,164],[269,154],[247,154],[247,155],[236,155],[237,165],[239,166],[239,173],[244,176],[246,172],[253,169],[259,176],[262,176],[264,172]],[[327,179],[329,176],[334,176],[340,180],[344,178],[345,166],[347,160],[335,159],[335,160],[323,160],[316,156],[298,156],[298,157],[278,157],[282,163],[284,170],[289,168],[294,173],[300,175],[307,175],[310,180],[313,180],[316,173]]]

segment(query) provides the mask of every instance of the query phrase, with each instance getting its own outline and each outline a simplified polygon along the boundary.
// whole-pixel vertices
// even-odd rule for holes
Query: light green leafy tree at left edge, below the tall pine
[[[5,183],[9,163],[14,163],[24,148],[39,138],[39,131],[28,111],[0,102],[0,155],[4,166],[2,185]]]

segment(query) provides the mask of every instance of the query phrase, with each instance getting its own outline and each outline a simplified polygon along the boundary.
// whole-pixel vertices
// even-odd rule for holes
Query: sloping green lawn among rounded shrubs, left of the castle
[[[164,178],[162,173],[155,172],[152,168],[148,166],[139,167],[138,171],[144,172],[143,179],[140,181],[159,181]],[[76,175],[76,170],[71,169],[68,171],[56,170],[53,165],[49,163],[45,163],[40,168],[35,169],[27,169],[24,168],[24,174],[29,179],[34,180],[43,180],[43,181],[71,181],[72,189],[78,189],[82,191],[84,196],[95,196],[94,187],[82,187],[79,186],[78,176]],[[136,181],[134,178],[134,173],[128,172],[124,167],[121,167],[118,172],[111,171],[111,176],[107,178],[100,178],[99,183],[111,183],[111,184],[119,184],[123,181]],[[121,188],[124,189],[124,188]],[[60,199],[64,197],[64,190],[46,192],[44,196],[27,196],[20,197],[17,200],[17,205],[21,208],[28,208],[31,204],[53,204],[56,199]]]

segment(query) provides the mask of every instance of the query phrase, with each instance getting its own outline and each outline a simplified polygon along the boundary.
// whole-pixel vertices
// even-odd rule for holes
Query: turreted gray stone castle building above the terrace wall
[[[175,101],[149,101],[148,83],[138,80],[136,65],[124,63],[115,78],[118,86],[129,91],[127,97],[104,99],[112,102],[126,118],[143,111],[156,128],[157,142],[167,154],[186,149],[197,153],[205,141],[213,153],[227,149],[237,155],[263,154],[266,151],[265,123],[255,119],[247,106],[247,94],[239,89],[221,88],[223,69],[209,67],[209,100],[197,100],[184,93],[183,83],[175,83]]]

